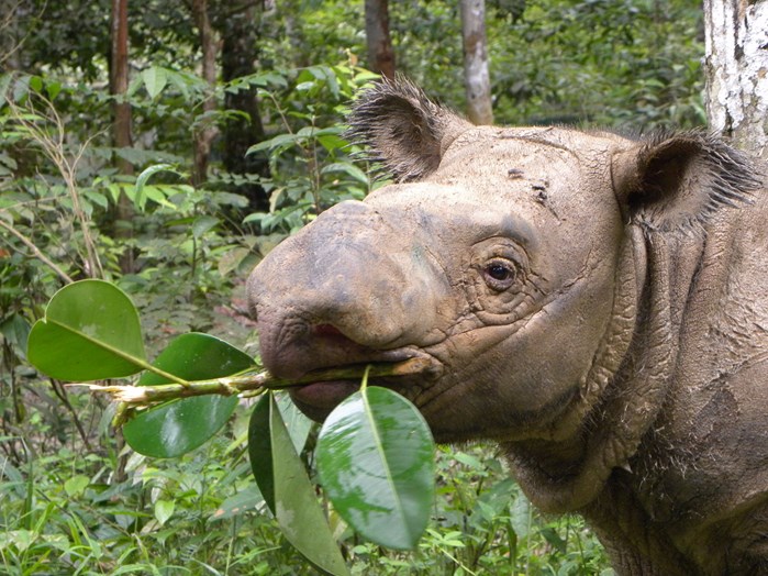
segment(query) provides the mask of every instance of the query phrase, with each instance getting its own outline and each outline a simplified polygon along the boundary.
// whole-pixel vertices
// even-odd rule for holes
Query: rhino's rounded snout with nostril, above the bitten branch
[[[247,287],[265,366],[296,378],[412,357],[434,323],[426,285],[436,279],[408,256],[405,237],[366,204],[345,202],[277,246]]]

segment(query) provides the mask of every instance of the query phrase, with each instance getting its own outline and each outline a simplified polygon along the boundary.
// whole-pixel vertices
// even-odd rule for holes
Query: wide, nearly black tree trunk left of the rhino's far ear
[[[258,40],[256,15],[255,4],[248,2],[237,10],[230,11],[226,20],[219,22],[219,30],[223,37],[221,66],[224,81],[256,71],[254,64]],[[267,176],[269,160],[266,154],[245,155],[249,146],[265,139],[256,89],[226,92],[224,107],[227,110],[245,112],[248,118],[247,120],[240,117],[233,118],[222,128],[224,167],[233,174]],[[234,186],[232,191],[247,197],[253,210],[265,212],[269,210],[269,196],[260,186],[245,184]]]

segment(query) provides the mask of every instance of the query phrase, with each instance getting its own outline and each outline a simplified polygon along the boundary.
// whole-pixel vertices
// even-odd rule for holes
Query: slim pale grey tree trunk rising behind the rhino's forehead
[[[486,46],[486,2],[460,0],[460,8],[467,115],[474,124],[492,124],[491,81]]]

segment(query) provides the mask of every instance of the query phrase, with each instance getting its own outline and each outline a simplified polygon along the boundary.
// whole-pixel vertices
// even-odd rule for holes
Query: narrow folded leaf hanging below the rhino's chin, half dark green
[[[286,539],[318,568],[348,575],[272,394],[251,416],[248,454],[256,484]]]

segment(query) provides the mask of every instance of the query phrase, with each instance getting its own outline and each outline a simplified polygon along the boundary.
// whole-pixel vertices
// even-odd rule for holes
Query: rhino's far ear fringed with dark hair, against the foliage
[[[363,92],[348,122],[349,139],[368,146],[370,159],[381,163],[397,181],[428,176],[448,145],[471,126],[402,77]]]

